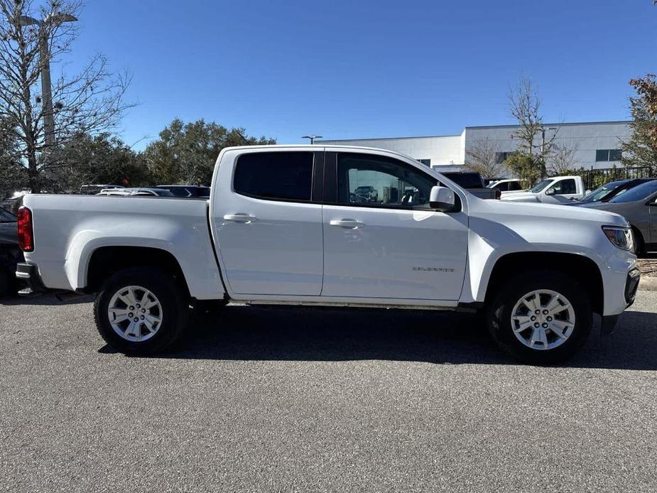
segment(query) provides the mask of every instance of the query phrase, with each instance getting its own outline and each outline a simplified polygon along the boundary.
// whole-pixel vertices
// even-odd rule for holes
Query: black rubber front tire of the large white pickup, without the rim
[[[511,312],[516,303],[527,293],[537,290],[555,291],[564,296],[575,313],[575,325],[572,326],[570,336],[552,349],[543,349],[542,343],[536,348],[523,344],[516,337],[514,325],[511,323]],[[574,278],[562,273],[536,269],[515,276],[501,286],[487,306],[487,325],[497,345],[511,357],[528,364],[554,364],[572,357],[585,344],[591,332],[592,315],[590,299]],[[533,329],[530,327],[527,330]],[[553,341],[558,339],[554,332],[548,330],[547,333]],[[528,332],[523,334],[527,335]]]

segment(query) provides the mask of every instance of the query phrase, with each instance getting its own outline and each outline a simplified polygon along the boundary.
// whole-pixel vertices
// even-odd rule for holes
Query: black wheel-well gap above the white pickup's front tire
[[[509,278],[509,272],[520,272],[525,268],[536,266],[574,278],[585,288],[594,313],[603,313],[604,285],[597,264],[583,255],[550,251],[511,253],[497,259],[488,279],[484,303],[488,304],[492,300],[497,288]]]

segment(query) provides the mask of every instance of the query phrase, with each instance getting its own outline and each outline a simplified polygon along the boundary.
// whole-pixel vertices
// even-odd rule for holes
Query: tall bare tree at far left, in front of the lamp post
[[[40,7],[32,0],[0,0],[0,119],[8,122],[9,138],[16,142],[16,157],[27,168],[33,193],[57,166],[49,158],[53,147],[80,134],[113,129],[133,106],[124,100],[129,77],[112,74],[103,55],[77,75],[62,72],[55,77],[52,97],[40,94],[43,67],[69,53],[77,37],[76,25],[69,21],[80,6],[78,0],[50,0]],[[43,85],[46,90],[49,86]],[[50,130],[48,121],[53,122]]]

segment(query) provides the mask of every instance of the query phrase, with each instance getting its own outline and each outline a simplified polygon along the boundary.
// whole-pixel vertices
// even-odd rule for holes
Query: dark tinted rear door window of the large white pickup
[[[235,192],[266,200],[310,202],[312,152],[254,152],[237,158]]]

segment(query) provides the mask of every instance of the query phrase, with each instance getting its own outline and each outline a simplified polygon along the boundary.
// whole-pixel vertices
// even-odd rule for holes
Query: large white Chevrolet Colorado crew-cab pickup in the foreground
[[[619,215],[481,200],[371,148],[226,148],[210,200],[28,195],[18,230],[18,278],[97,293],[98,330],[126,353],[170,345],[190,305],[236,300],[479,310],[504,350],[550,363],[592,313],[612,330],[639,282]]]

